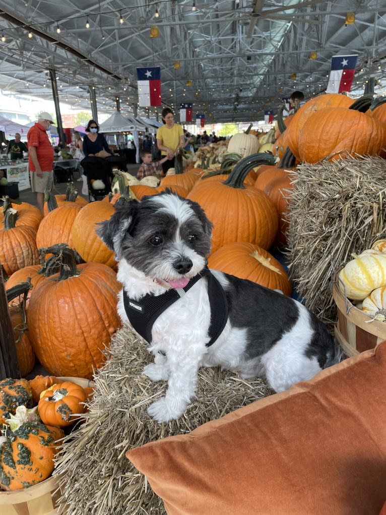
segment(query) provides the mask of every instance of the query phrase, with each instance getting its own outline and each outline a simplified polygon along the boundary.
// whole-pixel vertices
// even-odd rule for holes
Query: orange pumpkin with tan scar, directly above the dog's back
[[[284,267],[266,250],[252,243],[229,243],[220,247],[208,259],[208,267],[248,279],[270,289],[292,293],[291,282]]]

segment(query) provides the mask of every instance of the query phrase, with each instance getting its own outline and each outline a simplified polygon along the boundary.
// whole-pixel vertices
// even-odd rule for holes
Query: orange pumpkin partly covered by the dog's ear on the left
[[[110,202],[97,200],[85,205],[77,214],[71,235],[73,246],[84,261],[103,263],[116,268],[114,252],[104,245],[95,232],[97,224],[108,220],[113,213],[114,206]]]

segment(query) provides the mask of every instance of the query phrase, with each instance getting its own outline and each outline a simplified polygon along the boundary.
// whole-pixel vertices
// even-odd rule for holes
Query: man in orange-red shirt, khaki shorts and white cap
[[[52,174],[54,148],[46,132],[51,125],[55,125],[51,115],[42,112],[39,114],[38,122],[27,133],[31,189],[36,192],[38,206],[42,212],[44,192],[45,190],[51,191],[54,183],[54,175]]]

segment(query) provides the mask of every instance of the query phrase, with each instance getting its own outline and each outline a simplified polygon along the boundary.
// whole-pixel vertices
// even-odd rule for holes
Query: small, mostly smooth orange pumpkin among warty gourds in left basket
[[[84,413],[86,392],[72,381],[50,386],[42,392],[38,403],[39,417],[44,424],[66,427]]]

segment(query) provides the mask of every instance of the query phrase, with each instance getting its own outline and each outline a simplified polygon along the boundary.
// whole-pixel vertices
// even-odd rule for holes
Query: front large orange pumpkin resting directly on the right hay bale
[[[293,124],[290,125],[292,127]],[[354,109],[327,107],[312,114],[299,136],[302,161],[317,163],[347,155],[382,155],[386,145],[386,126]]]

